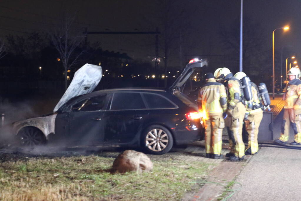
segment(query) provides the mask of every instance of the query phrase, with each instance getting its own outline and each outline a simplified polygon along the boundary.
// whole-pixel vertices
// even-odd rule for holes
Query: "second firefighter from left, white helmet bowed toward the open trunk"
[[[242,139],[242,128],[246,109],[242,103],[242,93],[240,81],[233,77],[233,73],[228,68],[222,68],[216,74],[217,78],[224,83],[228,97],[228,118],[225,119],[229,135],[230,153],[226,157],[231,161],[244,159],[245,146]]]

